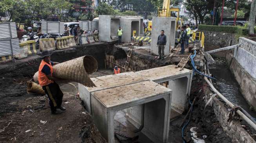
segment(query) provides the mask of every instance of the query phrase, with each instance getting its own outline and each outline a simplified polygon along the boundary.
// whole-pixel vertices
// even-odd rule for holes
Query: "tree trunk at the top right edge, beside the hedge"
[[[248,25],[250,35],[254,35],[255,17],[256,17],[256,0],[252,0],[251,12],[249,17],[249,25]]]

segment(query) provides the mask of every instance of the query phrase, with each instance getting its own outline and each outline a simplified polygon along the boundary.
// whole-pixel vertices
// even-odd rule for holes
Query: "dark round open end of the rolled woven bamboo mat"
[[[88,74],[91,74],[97,71],[98,62],[93,56],[85,55],[83,62],[84,62],[84,69]]]

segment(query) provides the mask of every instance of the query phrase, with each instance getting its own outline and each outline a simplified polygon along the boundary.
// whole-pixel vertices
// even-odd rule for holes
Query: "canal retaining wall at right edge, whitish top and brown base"
[[[256,109],[256,42],[239,38],[239,43],[241,46],[235,57],[232,53],[226,55],[227,63],[243,97]]]

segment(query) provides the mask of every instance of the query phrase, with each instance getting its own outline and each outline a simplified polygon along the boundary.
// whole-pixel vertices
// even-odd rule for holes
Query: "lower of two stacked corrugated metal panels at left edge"
[[[20,46],[18,38],[0,40],[0,57],[19,53]]]

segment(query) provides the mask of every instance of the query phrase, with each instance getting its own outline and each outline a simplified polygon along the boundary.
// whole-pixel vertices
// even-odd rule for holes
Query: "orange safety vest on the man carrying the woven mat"
[[[42,72],[45,64],[50,67],[51,75],[53,75],[53,66],[51,65],[51,62],[46,63],[44,60],[42,60],[38,70],[38,82],[40,86],[47,86],[48,84],[53,83],[53,80],[49,80],[45,73]]]

